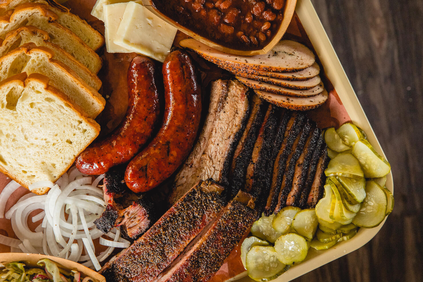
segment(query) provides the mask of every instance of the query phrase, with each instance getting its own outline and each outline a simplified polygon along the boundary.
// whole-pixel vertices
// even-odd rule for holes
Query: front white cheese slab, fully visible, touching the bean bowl
[[[170,52],[176,27],[135,2],[129,2],[113,41],[121,47],[163,62]]]

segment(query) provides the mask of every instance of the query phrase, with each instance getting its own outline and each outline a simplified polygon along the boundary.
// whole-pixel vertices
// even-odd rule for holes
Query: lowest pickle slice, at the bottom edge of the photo
[[[270,281],[285,270],[272,246],[253,246],[245,258],[248,276],[255,281]]]

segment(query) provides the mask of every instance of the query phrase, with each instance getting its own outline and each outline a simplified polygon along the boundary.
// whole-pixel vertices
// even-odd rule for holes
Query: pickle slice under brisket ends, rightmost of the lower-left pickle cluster
[[[314,208],[299,211],[292,221],[292,228],[295,232],[310,240],[316,234],[318,225],[319,222],[317,221],[316,210]]]

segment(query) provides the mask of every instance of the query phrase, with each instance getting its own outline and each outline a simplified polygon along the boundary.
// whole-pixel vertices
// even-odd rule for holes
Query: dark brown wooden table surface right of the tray
[[[312,2],[391,164],[395,207],[368,244],[294,281],[423,281],[423,1]]]

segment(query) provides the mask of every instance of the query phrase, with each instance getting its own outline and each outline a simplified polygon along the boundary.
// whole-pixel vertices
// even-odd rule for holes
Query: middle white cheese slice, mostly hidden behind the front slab
[[[106,49],[109,53],[132,52],[113,43],[127,5],[128,3],[104,5],[104,38],[106,39]]]

